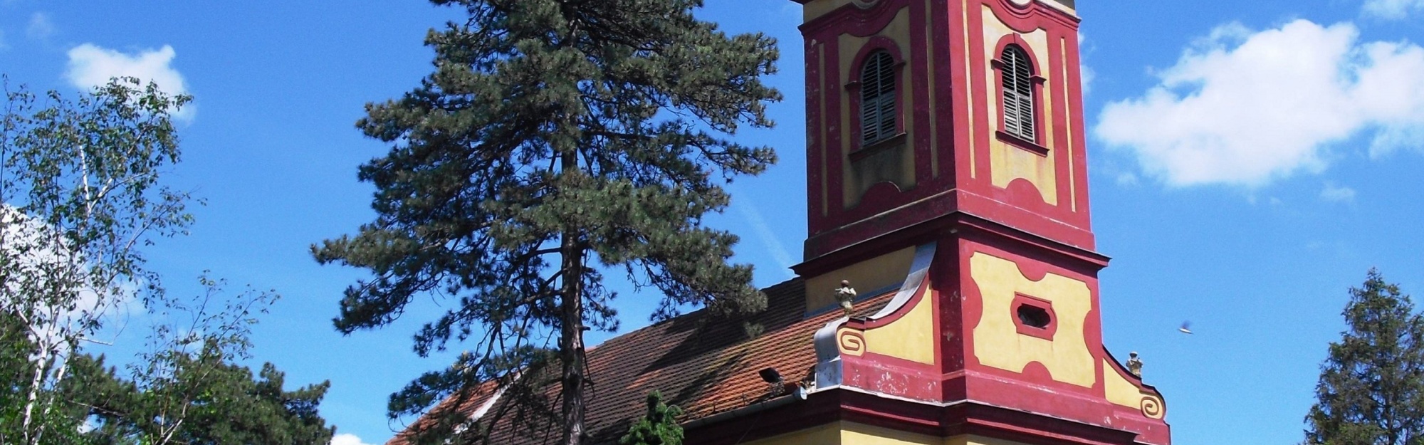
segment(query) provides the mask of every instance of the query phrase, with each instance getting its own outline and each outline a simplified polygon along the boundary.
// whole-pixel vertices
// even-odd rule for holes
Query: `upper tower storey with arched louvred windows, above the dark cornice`
[[[1072,0],[807,0],[807,258],[964,211],[1092,250]]]

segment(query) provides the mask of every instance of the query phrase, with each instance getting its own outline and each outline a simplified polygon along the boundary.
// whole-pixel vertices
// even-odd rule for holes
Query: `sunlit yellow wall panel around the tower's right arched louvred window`
[[[980,13],[983,14],[984,23],[984,60],[998,58],[998,41],[1004,36],[1015,34],[1015,31],[1004,24],[1004,21],[1000,20],[998,16],[994,14],[994,10],[987,4],[983,6]],[[1034,58],[1038,61],[1038,64],[1032,68],[1034,74],[1042,77],[1054,76],[1055,73],[1048,71],[1048,33],[1044,30],[1034,30],[1028,34],[1020,34],[1020,37],[1028,43],[1025,50],[1032,51]],[[990,88],[1000,88],[998,70],[994,70],[990,63],[984,64],[984,76],[987,80],[985,84],[990,86]],[[1035,116],[1038,116],[1038,126],[1035,127],[1035,131],[1041,134],[1040,140],[1044,141],[1044,147],[1049,148],[1057,147],[1057,141],[1054,140],[1052,116],[1055,104],[1052,101],[1052,83],[1044,83],[1042,90],[1040,90],[1040,93],[1034,97],[1034,101],[1038,104],[1035,110]],[[998,94],[988,94],[987,101],[991,111],[988,120],[991,128],[990,133],[995,134],[1001,130],[1000,116],[1004,114],[1004,104],[1001,103]],[[1007,188],[1014,180],[1024,178],[1038,188],[1038,194],[1042,197],[1044,203],[1058,205],[1058,181],[1057,171],[1054,170],[1054,158],[1059,155],[1057,153],[1058,150],[1048,150],[1048,155],[1045,157],[1010,145],[1000,141],[994,135],[990,137],[988,145],[991,170],[990,180],[994,187]]]

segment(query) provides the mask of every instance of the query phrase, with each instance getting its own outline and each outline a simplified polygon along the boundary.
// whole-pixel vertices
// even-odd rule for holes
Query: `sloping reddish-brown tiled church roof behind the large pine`
[[[776,368],[787,382],[810,375],[816,364],[812,335],[840,317],[842,311],[834,308],[805,317],[806,290],[802,280],[790,280],[763,292],[768,307],[760,314],[726,319],[696,311],[588,349],[587,444],[615,444],[634,418],[645,412],[645,398],[654,389],[661,391],[668,404],[684,408],[682,421],[692,421],[762,401],[768,384],[758,375],[760,369]],[[887,300],[860,302],[856,315],[873,314]],[[762,334],[748,338],[745,321],[760,324]],[[557,379],[550,381],[555,384],[548,385],[547,394],[550,399],[557,399]],[[481,389],[486,395],[466,401],[461,412],[474,412],[484,404],[490,391]],[[558,406],[550,409],[558,412]],[[547,434],[531,435],[525,428],[514,428],[506,416],[494,428],[490,442],[533,445],[560,439],[554,425],[534,431]],[[397,435],[387,445],[406,445],[406,435]]]

